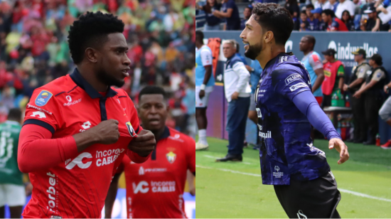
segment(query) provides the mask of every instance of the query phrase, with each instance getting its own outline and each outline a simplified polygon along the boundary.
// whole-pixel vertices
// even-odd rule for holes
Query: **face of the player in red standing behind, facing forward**
[[[144,129],[164,129],[168,105],[163,95],[142,95],[139,101],[139,117]]]

